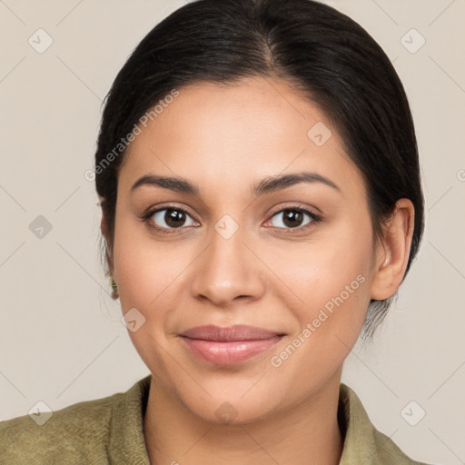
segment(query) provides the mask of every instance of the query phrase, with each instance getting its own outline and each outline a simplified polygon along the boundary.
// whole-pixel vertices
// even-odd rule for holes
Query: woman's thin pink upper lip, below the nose
[[[213,324],[207,326],[195,326],[181,334],[191,339],[203,339],[205,341],[256,341],[282,336],[279,332],[265,330],[256,326],[237,324],[234,326],[220,327]]]

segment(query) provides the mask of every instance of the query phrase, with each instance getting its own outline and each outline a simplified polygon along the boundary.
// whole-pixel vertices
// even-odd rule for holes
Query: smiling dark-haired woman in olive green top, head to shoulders
[[[360,25],[310,0],[183,6],[117,75],[94,173],[151,375],[4,421],[2,463],[420,463],[341,383],[423,230],[409,104]]]

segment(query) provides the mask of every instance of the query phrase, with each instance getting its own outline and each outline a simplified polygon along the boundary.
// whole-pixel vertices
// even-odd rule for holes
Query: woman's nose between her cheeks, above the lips
[[[215,230],[211,236],[194,262],[193,297],[220,307],[262,297],[266,267],[252,252],[251,244],[244,243],[242,228],[228,239]]]

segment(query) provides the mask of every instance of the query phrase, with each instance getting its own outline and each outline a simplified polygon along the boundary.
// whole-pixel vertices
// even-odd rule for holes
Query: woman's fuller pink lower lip
[[[215,365],[235,365],[268,351],[282,336],[273,336],[268,339],[253,341],[205,341],[203,339],[191,339],[182,337],[184,343],[203,361],[209,361]]]

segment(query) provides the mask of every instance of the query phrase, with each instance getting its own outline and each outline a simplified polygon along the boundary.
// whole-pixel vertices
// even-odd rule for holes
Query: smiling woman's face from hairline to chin
[[[183,87],[164,106],[118,180],[114,279],[136,350],[164,391],[216,422],[222,409],[248,422],[338,386],[377,260],[361,173],[339,134],[271,79]],[[299,173],[310,174],[272,181]],[[197,192],[132,189],[143,176]],[[181,334],[205,325],[281,336],[193,342],[202,356]]]

